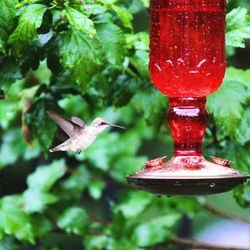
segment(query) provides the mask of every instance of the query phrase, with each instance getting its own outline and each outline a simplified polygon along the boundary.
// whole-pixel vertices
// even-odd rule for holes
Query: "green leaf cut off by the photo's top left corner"
[[[8,36],[14,24],[17,9],[17,0],[2,0],[0,4],[0,51],[4,52]]]

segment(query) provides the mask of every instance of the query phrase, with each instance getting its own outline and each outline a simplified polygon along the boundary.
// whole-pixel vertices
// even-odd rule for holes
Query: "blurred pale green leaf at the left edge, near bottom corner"
[[[0,235],[1,232],[34,243],[30,218],[22,211],[18,196],[7,196],[0,200]]]

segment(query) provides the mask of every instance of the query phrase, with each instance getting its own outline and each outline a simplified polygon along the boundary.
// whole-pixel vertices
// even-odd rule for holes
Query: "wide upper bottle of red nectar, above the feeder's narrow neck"
[[[225,0],[151,0],[150,74],[170,97],[204,97],[225,74]]]

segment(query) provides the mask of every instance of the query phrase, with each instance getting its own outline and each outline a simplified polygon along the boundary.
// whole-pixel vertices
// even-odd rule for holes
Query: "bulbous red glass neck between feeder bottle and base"
[[[170,98],[168,126],[174,140],[174,156],[202,156],[202,140],[208,123],[206,97]]]

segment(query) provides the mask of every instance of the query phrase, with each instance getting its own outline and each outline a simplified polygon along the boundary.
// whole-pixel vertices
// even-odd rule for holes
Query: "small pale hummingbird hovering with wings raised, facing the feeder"
[[[90,125],[86,125],[82,119],[76,116],[67,118],[53,111],[47,111],[47,113],[69,137],[62,144],[50,149],[50,152],[72,150],[80,154],[81,151],[90,146],[96,137],[106,128],[114,127],[125,129],[122,126],[109,123],[100,117],[94,119]]]

